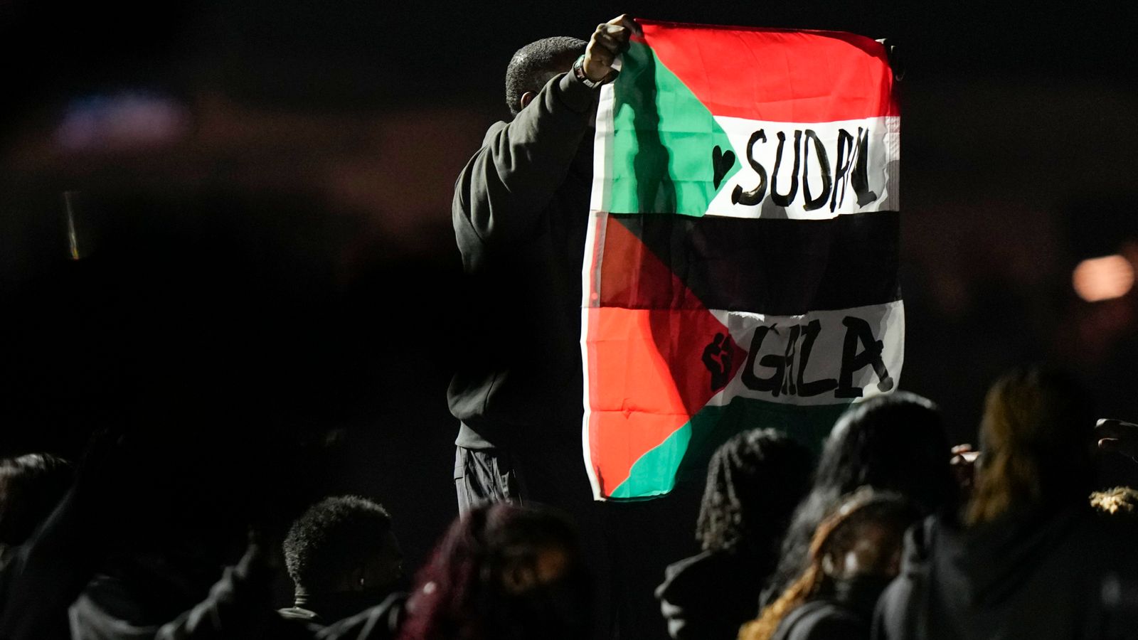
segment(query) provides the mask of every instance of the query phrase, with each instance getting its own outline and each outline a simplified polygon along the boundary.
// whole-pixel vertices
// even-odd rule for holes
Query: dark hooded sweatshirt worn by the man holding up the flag
[[[490,126],[455,183],[470,298],[454,309],[447,401],[461,446],[513,446],[533,430],[580,446],[595,108],[596,91],[572,74],[554,76],[513,121]]]

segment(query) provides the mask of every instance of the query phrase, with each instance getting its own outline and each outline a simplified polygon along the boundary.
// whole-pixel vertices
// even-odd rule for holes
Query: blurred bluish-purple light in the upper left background
[[[55,138],[68,151],[129,150],[172,142],[189,123],[182,105],[155,93],[88,96],[67,106]]]

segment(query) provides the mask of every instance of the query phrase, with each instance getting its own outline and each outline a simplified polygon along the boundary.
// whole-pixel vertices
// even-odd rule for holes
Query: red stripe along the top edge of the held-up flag
[[[714,115],[811,123],[899,113],[885,48],[869,38],[637,22],[643,41]]]

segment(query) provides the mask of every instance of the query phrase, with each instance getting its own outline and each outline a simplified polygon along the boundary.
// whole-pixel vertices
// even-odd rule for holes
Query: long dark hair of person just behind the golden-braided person
[[[857,487],[896,491],[925,514],[955,504],[958,486],[950,459],[940,410],[929,399],[898,391],[851,405],[823,445],[814,484],[794,511],[762,602],[802,574],[818,525]]]

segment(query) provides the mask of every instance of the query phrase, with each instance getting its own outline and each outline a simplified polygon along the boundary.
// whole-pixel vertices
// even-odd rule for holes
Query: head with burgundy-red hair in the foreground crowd
[[[576,530],[543,507],[483,506],[443,536],[417,580],[404,640],[584,638],[591,590]]]

